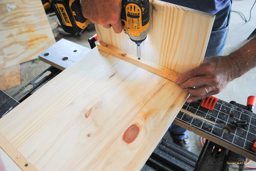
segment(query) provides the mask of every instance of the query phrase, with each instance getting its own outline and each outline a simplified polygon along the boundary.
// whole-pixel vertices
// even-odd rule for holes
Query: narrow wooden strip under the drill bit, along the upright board
[[[103,43],[103,42],[98,42],[97,47],[99,50],[102,50],[103,52],[106,52],[110,55],[120,58],[126,62],[132,63],[136,66],[139,66],[147,71],[150,71],[150,72],[157,74],[161,77],[164,77],[166,79],[169,79],[170,81],[173,81],[173,82],[176,81],[176,78],[178,76],[182,75],[178,72],[170,70],[164,66],[158,65],[158,64],[148,61],[146,59],[141,58],[139,60],[136,55],[125,52],[121,49],[115,48],[115,47],[108,45],[106,43]]]

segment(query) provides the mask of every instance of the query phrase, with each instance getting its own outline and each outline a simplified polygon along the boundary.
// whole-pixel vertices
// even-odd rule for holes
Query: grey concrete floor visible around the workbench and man
[[[232,4],[232,10],[242,12],[248,20],[250,17],[249,12],[253,3],[254,3],[254,0],[242,0],[242,1],[234,0]],[[247,39],[247,37],[251,34],[251,32],[255,28],[256,28],[256,7],[253,7],[251,12],[251,19],[247,23],[242,19],[242,17],[239,14],[232,12],[230,25],[229,25],[229,35],[228,35],[224,53],[228,54],[229,52],[232,52],[234,49],[239,47],[239,45],[245,39]],[[90,30],[90,31],[87,30],[87,31],[84,31],[80,36],[59,35],[56,41],[60,40],[61,38],[65,38],[67,40],[76,42],[78,44],[81,44],[83,46],[90,48],[88,39],[91,36],[93,36],[95,33],[96,33],[95,30]],[[46,64],[39,60],[33,60],[33,61],[20,64],[20,76],[21,76],[20,86],[6,89],[4,90],[4,92],[6,92],[8,95],[14,94],[17,90],[19,90],[21,87],[26,85],[32,79],[34,79],[38,74],[43,72],[49,66],[50,66],[49,64]],[[215,95],[215,97],[228,102],[234,100],[240,104],[245,105],[247,102],[248,96],[250,95],[256,96],[256,86],[255,86],[256,74],[255,73],[256,73],[256,69],[253,69],[247,74],[241,76],[240,78],[233,80],[228,84],[228,86],[224,90],[222,90],[221,93]],[[168,133],[166,133],[164,137],[166,139],[172,140],[172,138]],[[192,152],[199,155],[202,148],[200,144],[200,136],[196,135],[193,132],[190,132],[188,134],[188,137],[190,138]],[[256,167],[256,164],[251,164],[250,166]],[[142,170],[153,171],[154,169],[151,169],[148,166],[144,166]],[[238,168],[236,166],[233,166],[233,167],[230,167],[230,170],[238,170]],[[256,169],[250,169],[250,170],[256,170]]]

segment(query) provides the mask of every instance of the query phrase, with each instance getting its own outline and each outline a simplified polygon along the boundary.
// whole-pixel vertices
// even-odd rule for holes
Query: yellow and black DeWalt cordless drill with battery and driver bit
[[[81,33],[90,22],[83,17],[80,0],[52,0],[51,5],[67,33]],[[149,0],[122,0],[121,20],[123,31],[137,44],[140,59],[140,44],[147,38],[149,26]]]

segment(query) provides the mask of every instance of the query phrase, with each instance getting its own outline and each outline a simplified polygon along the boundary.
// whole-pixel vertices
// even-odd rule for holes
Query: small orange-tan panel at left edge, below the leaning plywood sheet
[[[11,66],[0,70],[0,89],[20,85],[20,65]]]

